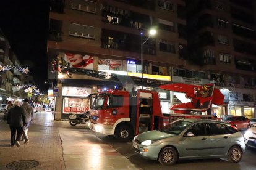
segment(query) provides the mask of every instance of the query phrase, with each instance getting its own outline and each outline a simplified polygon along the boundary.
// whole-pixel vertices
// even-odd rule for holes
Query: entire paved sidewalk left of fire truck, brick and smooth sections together
[[[86,124],[70,126],[53,121],[48,112],[36,113],[28,129],[30,142],[11,147],[9,124],[0,113],[0,169],[14,161],[12,169],[140,169],[126,156],[96,137]],[[22,163],[22,160],[27,160]],[[11,169],[11,168],[9,168]]]

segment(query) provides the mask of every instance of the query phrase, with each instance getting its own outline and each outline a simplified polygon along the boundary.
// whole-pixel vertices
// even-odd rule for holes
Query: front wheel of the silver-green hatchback
[[[177,152],[172,147],[165,147],[161,150],[158,161],[163,165],[172,165],[177,161]]]

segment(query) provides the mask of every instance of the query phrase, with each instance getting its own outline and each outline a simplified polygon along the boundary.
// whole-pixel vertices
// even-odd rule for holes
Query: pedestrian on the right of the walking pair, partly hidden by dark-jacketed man
[[[25,98],[23,100],[23,104],[20,106],[23,108],[24,110],[24,113],[25,113],[25,126],[24,126],[24,129],[23,129],[23,132],[22,132],[22,140],[25,139],[25,144],[27,144],[29,142],[28,140],[28,127],[30,126],[30,122],[32,121],[33,119],[33,114],[34,114],[34,109],[32,106],[30,106],[28,104],[28,99]]]

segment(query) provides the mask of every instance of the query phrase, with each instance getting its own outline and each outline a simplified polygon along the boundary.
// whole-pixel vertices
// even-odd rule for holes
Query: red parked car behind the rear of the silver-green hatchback
[[[249,129],[251,127],[250,120],[244,116],[227,116],[222,121],[236,126],[237,129]]]

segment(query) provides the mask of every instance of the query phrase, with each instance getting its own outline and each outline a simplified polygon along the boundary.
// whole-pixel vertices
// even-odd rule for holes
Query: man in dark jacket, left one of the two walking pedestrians
[[[19,147],[23,127],[26,124],[25,113],[23,108],[20,107],[20,101],[16,100],[14,107],[8,111],[7,123],[11,130],[11,145]]]

